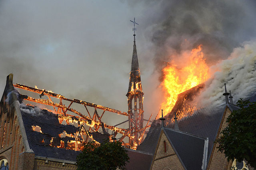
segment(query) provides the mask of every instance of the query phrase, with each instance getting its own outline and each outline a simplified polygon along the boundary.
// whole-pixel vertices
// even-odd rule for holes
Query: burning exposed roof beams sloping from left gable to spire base
[[[22,84],[15,84],[14,87],[20,88],[20,89],[23,89],[23,90],[27,90],[27,91],[30,91],[30,92],[35,92],[35,93],[38,93],[38,94],[44,94],[44,95],[48,96],[49,99],[48,100],[44,100],[44,99],[35,99],[35,98],[31,98],[29,96],[21,95],[21,97],[24,100],[28,100],[30,102],[36,102],[36,103],[52,106],[54,108],[54,111],[58,114],[58,119],[59,119],[60,123],[63,120],[65,120],[67,124],[69,124],[70,122],[72,122],[72,123],[75,122],[75,123],[78,123],[78,126],[80,126],[80,125],[83,126],[83,124],[84,125],[88,125],[89,131],[93,131],[93,132],[98,131],[99,127],[103,123],[103,122],[101,122],[101,118],[104,115],[105,111],[110,111],[110,112],[113,112],[113,113],[129,116],[128,113],[126,113],[126,112],[121,112],[121,111],[118,111],[118,110],[115,110],[115,109],[111,109],[111,108],[108,108],[108,107],[104,107],[104,106],[100,106],[100,105],[96,105],[96,104],[91,104],[91,103],[84,102],[82,100],[77,100],[77,99],[70,100],[70,99],[65,98],[64,96],[61,96],[60,94],[55,94],[52,91],[40,90],[38,88],[32,88],[32,87],[25,86],[25,85],[22,85]],[[51,97],[60,99],[60,103],[52,102]],[[62,103],[62,100],[69,101],[70,102],[69,106],[66,107]],[[86,111],[87,111],[89,117],[86,116],[86,115],[83,115],[82,113],[80,113],[79,111],[76,111],[75,109],[70,108],[70,106],[73,103],[83,104],[85,106],[85,108],[86,108]],[[94,114],[93,114],[92,117],[91,117],[91,115],[90,115],[90,113],[89,113],[89,111],[88,111],[86,106],[94,107],[95,110],[94,110]],[[55,107],[58,107],[58,109],[56,110]],[[104,110],[101,116],[98,115],[98,112],[96,110],[97,108]],[[76,113],[78,116],[75,116],[76,119],[74,119],[73,115],[66,114],[67,111],[71,111],[73,113]],[[140,110],[138,116],[141,116],[142,114],[143,113]],[[135,120],[133,120],[133,121],[134,121],[134,123],[136,123]],[[138,121],[138,120],[136,119],[136,121]],[[122,124],[122,123],[120,123],[120,124]],[[110,126],[110,125],[106,125],[106,123],[103,123],[103,125],[104,125],[105,128],[108,128],[108,129],[114,131],[115,133],[122,134],[122,137],[119,139],[119,141],[122,142],[124,146],[126,146],[128,148],[132,148],[132,149],[136,149],[136,146],[138,145],[138,143],[135,142],[131,146],[130,143],[124,143],[122,141],[124,139],[124,137],[128,137],[129,141],[131,141],[131,140],[135,139],[136,133],[140,133],[139,140],[141,141],[141,137],[144,135],[146,128],[150,127],[150,125],[148,125],[148,123],[147,123],[146,127],[144,127],[144,128],[132,127],[131,128],[132,132],[131,132],[130,128],[129,129],[122,129],[122,128],[116,127],[117,125],[116,126]],[[94,127],[94,129],[92,129],[92,127]],[[89,131],[86,131],[86,132],[88,133]],[[91,138],[92,140],[94,140],[92,135],[88,135],[88,134],[86,134],[86,135],[87,135],[87,137],[86,137],[85,142],[87,142],[88,137]],[[136,140],[137,140],[137,138],[136,138]]]

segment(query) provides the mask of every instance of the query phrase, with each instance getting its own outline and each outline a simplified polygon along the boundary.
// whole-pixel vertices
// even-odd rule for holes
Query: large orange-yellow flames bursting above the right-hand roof
[[[209,77],[209,67],[204,59],[202,45],[189,52],[182,53],[182,56],[177,58],[182,60],[173,60],[162,70],[164,80],[160,86],[165,93],[165,101],[161,104],[161,109],[164,110],[164,116],[172,111],[178,94],[205,82]],[[157,118],[159,116],[160,114],[158,114]]]

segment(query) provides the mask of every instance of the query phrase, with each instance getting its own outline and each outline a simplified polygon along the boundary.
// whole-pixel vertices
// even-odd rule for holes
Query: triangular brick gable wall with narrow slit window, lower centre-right
[[[166,152],[164,147],[164,141],[166,143]],[[172,148],[169,140],[161,131],[158,144],[156,146],[156,151],[151,165],[151,170],[184,170],[180,159],[178,158],[176,152]]]

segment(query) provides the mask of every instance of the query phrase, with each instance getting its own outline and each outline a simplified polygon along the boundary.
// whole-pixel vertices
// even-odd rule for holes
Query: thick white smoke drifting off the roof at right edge
[[[206,82],[202,91],[200,103],[210,106],[224,104],[224,83],[231,90],[234,104],[240,98],[246,98],[256,92],[256,41],[244,42],[235,48],[228,59],[210,68],[217,70],[213,77]]]

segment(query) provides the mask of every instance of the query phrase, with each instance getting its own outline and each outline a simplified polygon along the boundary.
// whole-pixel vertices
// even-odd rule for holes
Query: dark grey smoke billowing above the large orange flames
[[[163,0],[148,29],[156,69],[162,70],[184,50],[202,45],[208,65],[226,59],[234,47],[255,37],[255,1]],[[176,60],[176,59],[174,59]]]

